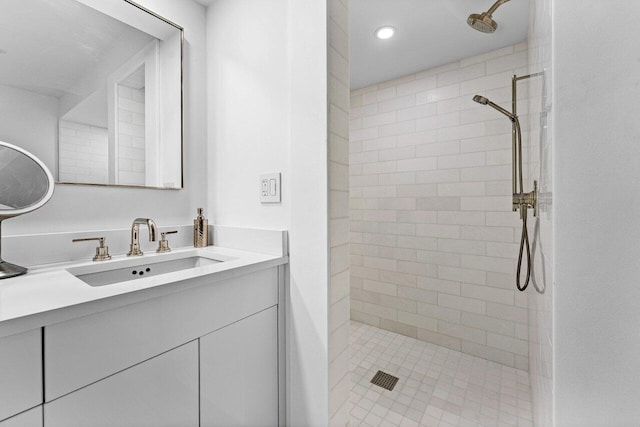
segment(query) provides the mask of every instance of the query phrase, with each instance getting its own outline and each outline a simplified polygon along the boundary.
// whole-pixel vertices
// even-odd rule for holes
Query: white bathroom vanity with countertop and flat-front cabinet
[[[82,280],[193,257],[219,262]],[[286,251],[184,248],[4,280],[0,427],[284,424],[286,263]]]

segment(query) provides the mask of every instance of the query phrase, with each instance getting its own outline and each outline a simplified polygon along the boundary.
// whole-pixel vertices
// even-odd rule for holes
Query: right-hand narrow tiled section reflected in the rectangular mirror
[[[144,185],[144,87],[118,86],[118,182]]]

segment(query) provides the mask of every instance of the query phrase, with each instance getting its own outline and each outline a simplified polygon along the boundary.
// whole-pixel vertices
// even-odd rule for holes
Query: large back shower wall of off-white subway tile
[[[511,124],[472,101],[510,108],[527,66],[522,43],[351,92],[353,320],[528,369]]]

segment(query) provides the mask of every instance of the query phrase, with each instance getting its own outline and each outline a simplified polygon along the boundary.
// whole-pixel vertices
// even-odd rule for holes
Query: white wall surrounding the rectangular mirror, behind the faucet
[[[3,222],[4,234],[123,228],[129,227],[132,220],[139,216],[151,217],[159,226],[185,224],[195,217],[197,207],[206,205],[204,7],[191,0],[142,0],[140,3],[185,28],[185,188],[175,191],[58,185],[53,198],[43,208]],[[7,122],[26,120],[23,112],[16,108],[1,116]],[[38,124],[33,129],[44,129],[43,126]],[[30,138],[24,139],[33,144]],[[46,162],[46,159],[43,160]]]

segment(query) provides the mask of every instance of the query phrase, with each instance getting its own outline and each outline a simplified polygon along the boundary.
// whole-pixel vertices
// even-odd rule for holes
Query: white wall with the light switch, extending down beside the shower
[[[329,422],[326,9],[313,0],[207,8],[211,216],[289,230],[288,425]],[[282,173],[280,204],[260,204],[268,172]]]

